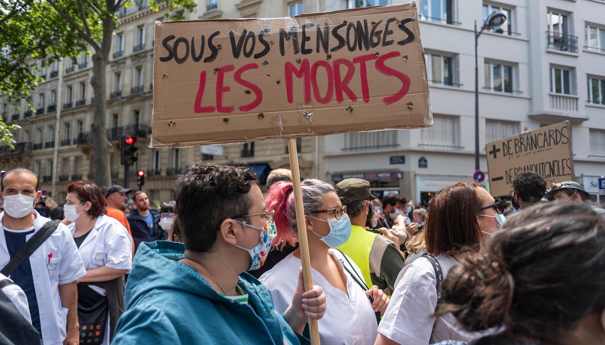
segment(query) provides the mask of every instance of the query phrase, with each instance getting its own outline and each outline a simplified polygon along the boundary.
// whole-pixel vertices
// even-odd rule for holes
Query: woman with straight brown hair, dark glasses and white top
[[[442,340],[473,340],[451,314],[434,318],[439,285],[460,257],[478,252],[503,223],[503,203],[470,182],[437,192],[424,229],[428,255],[401,270],[376,344],[425,345]]]

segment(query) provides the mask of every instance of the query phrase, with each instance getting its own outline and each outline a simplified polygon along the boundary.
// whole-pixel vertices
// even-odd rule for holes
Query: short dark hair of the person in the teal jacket
[[[178,229],[185,249],[211,250],[224,220],[248,214],[257,175],[246,164],[192,163],[175,184]]]

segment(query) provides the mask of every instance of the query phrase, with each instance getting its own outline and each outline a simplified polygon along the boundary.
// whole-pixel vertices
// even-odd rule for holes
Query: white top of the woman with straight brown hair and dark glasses
[[[458,264],[450,255],[439,255],[436,259],[444,278],[450,269]],[[433,265],[427,258],[417,258],[405,266],[397,276],[395,291],[378,332],[405,345],[427,345],[443,340],[470,342],[493,333],[466,331],[451,313],[434,321],[433,315],[437,306],[436,283]]]

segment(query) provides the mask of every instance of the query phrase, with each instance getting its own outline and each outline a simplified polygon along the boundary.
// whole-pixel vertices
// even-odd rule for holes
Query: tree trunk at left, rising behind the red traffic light
[[[114,24],[110,18],[103,18],[103,42],[100,50],[93,54],[93,78],[90,80],[94,90],[94,113],[93,113],[93,156],[94,177],[99,186],[111,185],[110,173],[110,148],[111,143],[106,134],[106,98],[107,82],[105,69],[109,62],[111,35]]]

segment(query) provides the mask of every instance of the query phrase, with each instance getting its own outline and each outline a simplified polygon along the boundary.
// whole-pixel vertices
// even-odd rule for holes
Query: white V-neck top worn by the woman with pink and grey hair
[[[319,340],[322,344],[330,345],[374,344],[378,337],[378,324],[370,300],[361,286],[342,268],[340,262],[340,259],[344,260],[342,254],[335,249],[330,249],[329,253],[336,258],[336,262],[340,264],[339,268],[347,276],[348,296],[342,290],[330,285],[321,273],[311,268],[313,285],[321,286],[325,294],[325,314],[318,320]],[[355,262],[350,258],[348,261],[362,277]],[[280,313],[286,311],[292,304],[301,266],[301,260],[290,253],[259,279],[273,294],[275,309]]]

